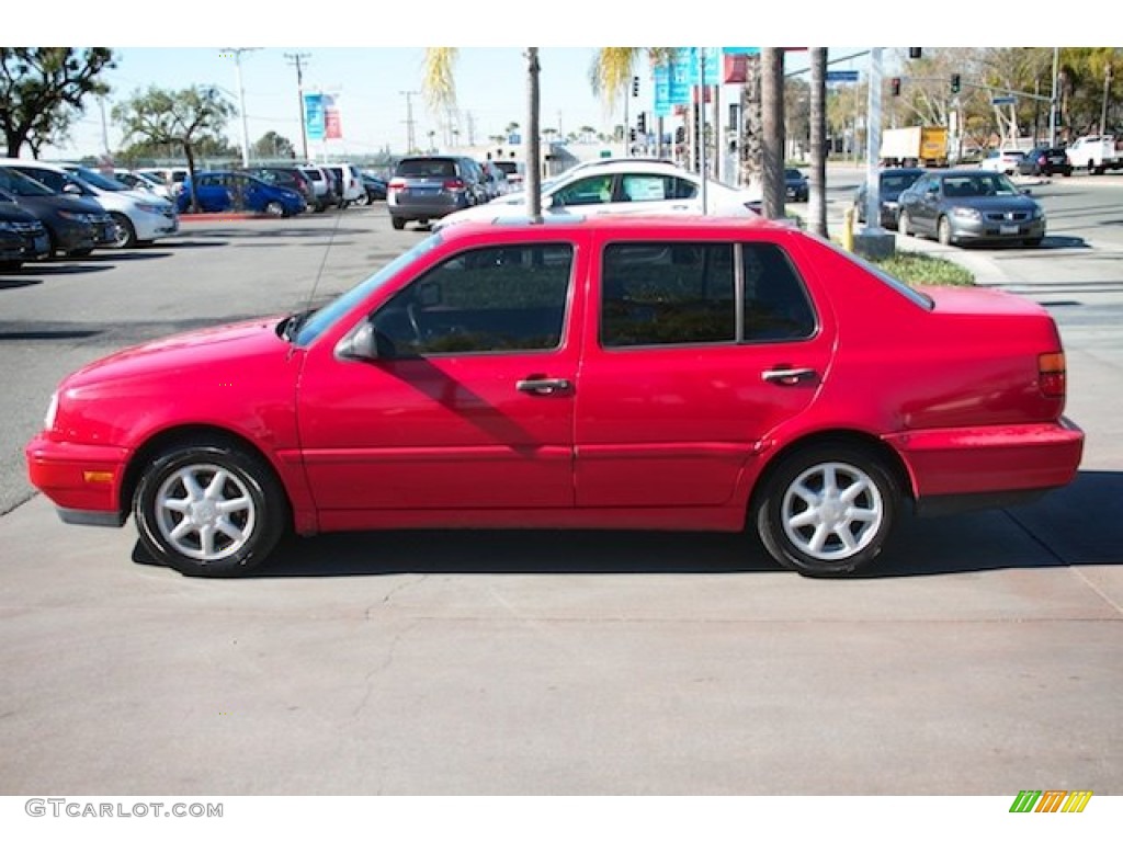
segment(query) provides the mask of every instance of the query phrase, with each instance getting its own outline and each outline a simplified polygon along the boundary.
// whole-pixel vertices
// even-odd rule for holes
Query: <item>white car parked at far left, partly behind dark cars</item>
[[[97,202],[113,220],[113,238],[108,244],[113,248],[133,248],[180,230],[180,219],[170,201],[152,193],[134,192],[94,170],[24,158],[6,158],[0,161],[0,166],[15,167],[54,191]]]

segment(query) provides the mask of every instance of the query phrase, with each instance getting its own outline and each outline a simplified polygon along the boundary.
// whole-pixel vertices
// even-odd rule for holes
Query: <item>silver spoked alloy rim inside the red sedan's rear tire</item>
[[[877,483],[853,465],[822,463],[784,492],[780,521],[788,540],[820,561],[848,559],[873,541],[886,516]]]

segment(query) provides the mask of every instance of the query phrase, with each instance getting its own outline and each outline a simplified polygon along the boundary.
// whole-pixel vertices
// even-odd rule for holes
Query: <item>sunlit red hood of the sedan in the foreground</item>
[[[264,354],[287,353],[277,335],[280,317],[176,333],[103,357],[72,374],[66,388],[146,376],[174,377],[177,372],[230,366]]]

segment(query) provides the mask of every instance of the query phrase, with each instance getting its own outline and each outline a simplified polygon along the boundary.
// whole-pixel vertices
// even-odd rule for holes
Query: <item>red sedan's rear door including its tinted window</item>
[[[606,237],[608,235],[605,235]],[[576,406],[577,505],[722,506],[814,400],[834,330],[775,242],[605,239]]]

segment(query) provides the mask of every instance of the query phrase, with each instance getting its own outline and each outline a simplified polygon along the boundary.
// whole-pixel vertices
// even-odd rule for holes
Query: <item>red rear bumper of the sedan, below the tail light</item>
[[[904,460],[917,505],[988,495],[1032,496],[1068,485],[1084,455],[1084,431],[1056,423],[920,430],[886,438]],[[1001,504],[1001,503],[999,503]]]

